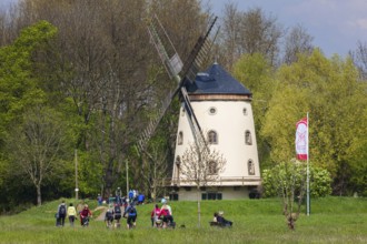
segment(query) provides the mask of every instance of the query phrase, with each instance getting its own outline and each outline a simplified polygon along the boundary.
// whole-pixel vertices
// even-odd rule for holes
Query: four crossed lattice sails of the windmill
[[[217,17],[214,18],[212,21],[210,21],[208,30],[202,35],[199,37],[197,43],[195,44],[185,64],[182,64],[180,57],[178,55],[171,40],[169,39],[165,28],[162,27],[158,18],[155,16],[151,19],[150,23],[148,24],[148,32],[150,34],[151,41],[153,42],[158,51],[158,54],[167,70],[167,73],[171,79],[175,79],[176,82],[178,82],[178,87],[175,90],[170,91],[167,99],[162,103],[161,109],[158,111],[158,115],[149,122],[147,129],[143,131],[142,135],[140,136],[138,143],[140,151],[143,151],[145,148],[147,146],[150,138],[153,135],[160,120],[165,115],[171,101],[179,92],[181,93],[181,96],[184,99],[185,109],[189,114],[189,122],[196,142],[198,140],[200,142],[205,141],[201,132],[201,128],[190,104],[190,100],[187,94],[185,84],[186,82],[192,83],[195,81],[195,77],[199,71],[200,65],[202,64],[202,62],[207,57],[207,53],[211,49],[214,39],[217,37],[218,31],[216,32],[212,40],[210,40],[209,34],[216,21],[217,21]],[[179,75],[179,73],[181,73],[182,78]]]

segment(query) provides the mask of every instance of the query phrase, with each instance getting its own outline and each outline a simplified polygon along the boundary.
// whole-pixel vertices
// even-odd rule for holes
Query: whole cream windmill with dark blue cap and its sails
[[[185,176],[180,174],[180,156],[190,143],[198,145],[208,141],[208,146],[216,148],[227,160],[218,180],[211,182],[210,187],[199,190],[202,199],[247,197],[260,184],[251,93],[217,63],[206,72],[197,73],[211,48],[209,34],[216,20],[199,37],[184,65],[156,17],[148,28],[168,74],[175,78],[178,87],[168,95],[157,119],[148,125],[139,140],[139,149],[145,150],[170,102],[179,94],[181,110],[171,181],[173,192],[170,194],[173,200],[197,200],[195,185],[181,181]]]

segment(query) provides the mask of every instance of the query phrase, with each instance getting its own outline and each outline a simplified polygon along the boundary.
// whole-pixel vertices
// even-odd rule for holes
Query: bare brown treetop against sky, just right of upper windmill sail
[[[277,18],[266,16],[260,8],[239,12],[235,3],[225,7],[225,17],[220,34],[222,47],[221,61],[231,69],[232,64],[244,53],[261,53],[270,65],[275,65],[282,37],[282,28],[277,23]]]

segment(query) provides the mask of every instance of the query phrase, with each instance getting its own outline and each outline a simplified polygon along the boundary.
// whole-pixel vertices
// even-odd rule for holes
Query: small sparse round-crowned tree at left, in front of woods
[[[63,164],[67,145],[66,129],[56,111],[37,106],[24,113],[23,124],[17,126],[8,140],[13,169],[26,174],[37,190],[37,204],[41,205],[41,186],[52,177],[54,169]]]

